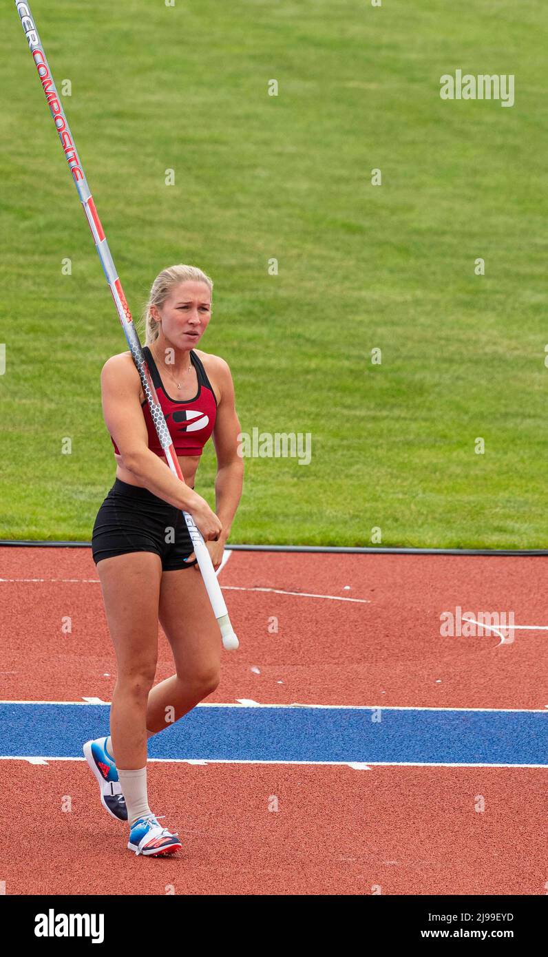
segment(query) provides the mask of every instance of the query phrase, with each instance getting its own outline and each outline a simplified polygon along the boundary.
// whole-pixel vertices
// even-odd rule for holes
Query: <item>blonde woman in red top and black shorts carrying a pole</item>
[[[164,269],[145,307],[143,352],[167,421],[185,484],[169,470],[131,353],[101,370],[104,421],[116,457],[116,480],[92,536],[118,677],[110,736],[84,754],[103,807],[129,823],[128,848],[158,857],[181,848],[148,806],[146,742],[215,690],[221,638],[182,510],[189,512],[219,568],[243,483],[240,423],[230,367],[196,349],[211,318],[213,284],[194,266]],[[215,512],[193,491],[209,436],[217,457]],[[154,687],[158,623],[171,646],[175,674]]]

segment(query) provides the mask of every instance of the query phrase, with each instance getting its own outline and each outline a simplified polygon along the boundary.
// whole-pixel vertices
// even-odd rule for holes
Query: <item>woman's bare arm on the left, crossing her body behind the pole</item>
[[[129,354],[111,356],[100,373],[105,425],[120,451],[124,468],[160,499],[190,512],[206,541],[220,535],[222,525],[208,502],[173,475],[148,448],[148,434],[139,396],[141,380]]]

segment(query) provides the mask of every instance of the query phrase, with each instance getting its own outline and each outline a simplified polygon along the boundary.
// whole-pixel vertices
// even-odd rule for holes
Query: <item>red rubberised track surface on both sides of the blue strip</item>
[[[548,626],[545,562],[233,552],[220,581],[246,589],[225,591],[241,647],[224,653],[208,701],[544,708],[548,632],[517,630],[499,647],[497,635],[439,633],[440,614],[456,606]],[[0,578],[0,698],[110,701],[115,658],[91,552],[3,547]],[[61,632],[66,615],[72,634]],[[160,632],[157,679],[172,670]],[[83,762],[0,761],[0,773],[11,811],[0,852],[8,894],[546,892],[541,768],[155,762],[151,806],[184,850],[146,861],[126,850],[126,829],[102,811]],[[72,812],[62,812],[63,795]]]

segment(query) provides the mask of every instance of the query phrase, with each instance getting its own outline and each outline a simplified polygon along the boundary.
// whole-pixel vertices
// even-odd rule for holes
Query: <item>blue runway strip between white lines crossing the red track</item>
[[[79,758],[85,741],[108,734],[109,710],[108,704],[0,703],[0,756]],[[548,766],[548,713],[198,706],[152,738],[148,755]]]

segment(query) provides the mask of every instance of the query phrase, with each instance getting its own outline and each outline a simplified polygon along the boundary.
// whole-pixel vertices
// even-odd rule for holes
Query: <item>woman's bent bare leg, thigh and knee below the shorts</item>
[[[158,616],[173,652],[176,674],[149,692],[146,727],[155,733],[178,721],[215,690],[222,648],[219,626],[197,566],[163,572]]]

